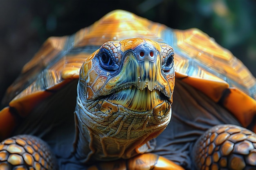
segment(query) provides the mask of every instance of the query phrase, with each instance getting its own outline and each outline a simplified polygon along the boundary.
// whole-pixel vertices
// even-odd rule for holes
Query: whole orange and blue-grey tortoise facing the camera
[[[0,169],[255,170],[255,99],[256,79],[206,33],[115,10],[23,67]]]

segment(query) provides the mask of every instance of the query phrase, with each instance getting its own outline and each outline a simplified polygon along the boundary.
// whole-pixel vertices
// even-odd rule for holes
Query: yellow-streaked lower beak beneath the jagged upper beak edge
[[[105,98],[112,104],[117,104],[135,112],[145,112],[154,109],[171,99],[158,90],[150,91],[148,88],[139,90],[135,86],[121,88]],[[166,101],[167,100],[167,101]]]

